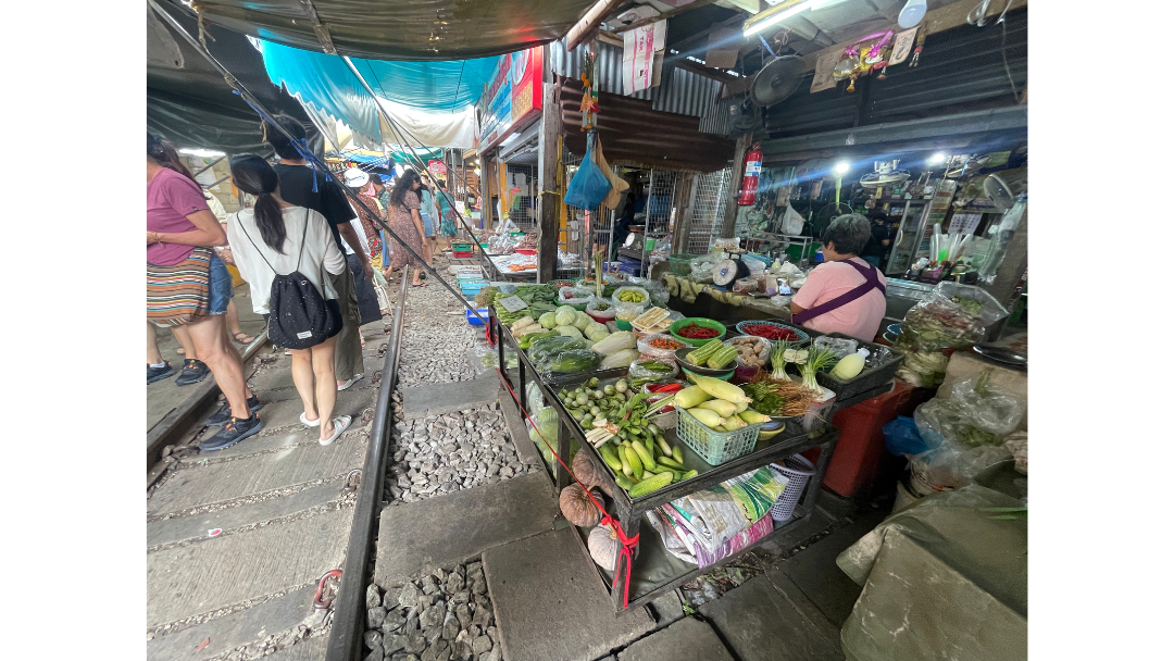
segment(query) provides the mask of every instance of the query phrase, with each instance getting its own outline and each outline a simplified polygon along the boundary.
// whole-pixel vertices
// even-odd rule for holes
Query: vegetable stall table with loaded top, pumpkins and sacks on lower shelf
[[[491,286],[478,301],[616,611],[809,534],[797,524],[839,438],[828,420],[891,390],[900,363],[871,345],[865,365],[855,340],[783,324],[688,318],[626,282]]]

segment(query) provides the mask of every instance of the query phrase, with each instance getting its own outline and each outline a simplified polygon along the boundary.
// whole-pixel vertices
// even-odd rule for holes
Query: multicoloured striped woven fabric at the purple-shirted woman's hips
[[[147,263],[147,321],[157,326],[178,326],[207,316],[209,268],[212,251],[196,248],[171,267]]]

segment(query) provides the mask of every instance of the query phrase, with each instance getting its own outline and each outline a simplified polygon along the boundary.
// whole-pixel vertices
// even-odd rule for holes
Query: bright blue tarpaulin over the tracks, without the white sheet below
[[[338,55],[328,55],[261,40],[265,70],[304,103],[325,110],[352,130],[377,142],[392,142],[379,131],[375,101]],[[392,62],[352,58],[371,89],[383,99],[433,114],[464,112],[481,95],[499,58],[441,62]]]

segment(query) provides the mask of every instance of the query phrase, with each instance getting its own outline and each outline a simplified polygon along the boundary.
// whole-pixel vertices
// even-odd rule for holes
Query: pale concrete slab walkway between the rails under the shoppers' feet
[[[237,305],[245,331],[259,332],[247,298],[238,296]],[[218,403],[184,432],[190,445],[173,454],[148,491],[147,659],[245,661],[277,649],[274,659],[323,657],[329,620],[312,600],[323,574],[343,566],[356,498],[349,475],[366,454],[379,385],[372,377],[387,343],[384,321],[364,326],[363,336],[365,376],[339,392],[336,405],[353,421],[332,445],[321,446],[318,430],[298,421],[291,358],[271,348],[245,366],[264,403],[259,434],[198,452],[195,445],[218,429],[202,425]],[[164,356],[176,364],[174,349]],[[150,411],[166,414],[168,389],[183,390],[155,386],[148,426]]]

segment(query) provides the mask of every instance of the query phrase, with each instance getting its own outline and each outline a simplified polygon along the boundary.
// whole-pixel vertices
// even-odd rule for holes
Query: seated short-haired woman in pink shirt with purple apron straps
[[[885,277],[859,257],[872,236],[858,214],[839,216],[823,232],[824,263],[791,299],[791,321],[819,332],[871,342],[885,311]]]

